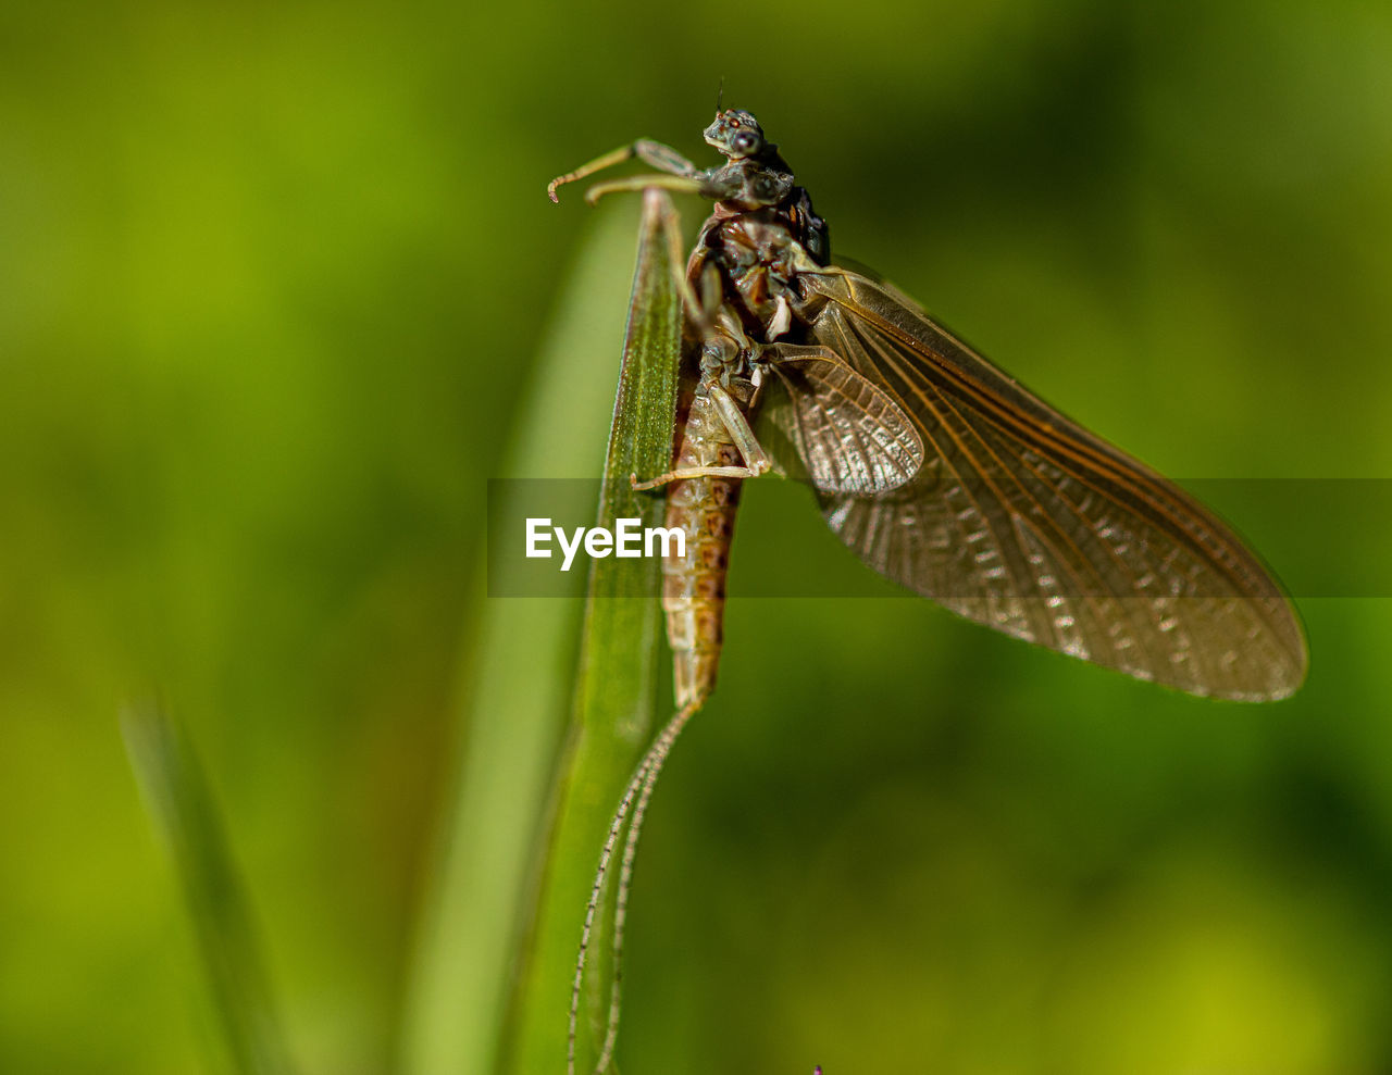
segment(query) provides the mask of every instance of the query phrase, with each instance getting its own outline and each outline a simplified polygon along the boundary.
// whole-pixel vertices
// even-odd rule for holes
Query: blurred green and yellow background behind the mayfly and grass
[[[1392,471],[1392,8],[60,3],[0,57],[6,1072],[226,1069],[116,723],[150,691],[302,1069],[401,1067],[489,765],[486,480],[601,462],[514,426],[594,250],[608,423],[635,207],[544,184],[636,135],[707,161],[722,75],[839,253],[1165,473]],[[734,594],[846,556],[800,490],[746,505]],[[1215,506],[1292,580],[1385,556],[1375,513]],[[1244,708],[884,594],[731,602],[644,836],[625,1071],[1392,1067],[1386,601],[1302,597],[1304,691]]]

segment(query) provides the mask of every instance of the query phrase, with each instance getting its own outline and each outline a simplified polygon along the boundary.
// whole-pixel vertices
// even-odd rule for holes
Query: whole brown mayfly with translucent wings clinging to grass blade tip
[[[1300,623],[1242,540],[1173,483],[1063,417],[912,299],[831,260],[825,221],[746,111],[724,110],[700,170],[639,140],[554,179],[639,159],[658,174],[601,182],[711,199],[685,270],[663,197],[685,307],[667,492],[686,531],[664,562],[677,715],[639,763],[600,858],[572,982],[568,1067],[590,926],[628,822],[615,967],[642,815],[682,726],[710,697],[741,483],[805,477],[827,524],[881,574],[998,631],[1190,694],[1267,701],[1306,673]],[[599,1071],[612,1056],[618,971]]]

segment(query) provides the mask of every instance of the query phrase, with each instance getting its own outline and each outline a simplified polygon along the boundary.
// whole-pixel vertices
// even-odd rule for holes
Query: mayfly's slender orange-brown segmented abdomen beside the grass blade
[[[710,398],[697,388],[672,469],[742,462]],[[741,478],[702,477],[681,478],[667,488],[667,526],[686,535],[685,556],[663,560],[663,609],[678,708],[699,705],[715,688],[739,487]]]

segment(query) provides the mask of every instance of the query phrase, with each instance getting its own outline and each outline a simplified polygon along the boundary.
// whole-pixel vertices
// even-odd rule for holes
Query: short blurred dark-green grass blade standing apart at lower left
[[[288,1075],[256,930],[217,808],[184,732],[159,706],[121,715],[135,777],[184,884],[199,954],[235,1071]]]

